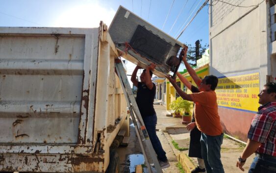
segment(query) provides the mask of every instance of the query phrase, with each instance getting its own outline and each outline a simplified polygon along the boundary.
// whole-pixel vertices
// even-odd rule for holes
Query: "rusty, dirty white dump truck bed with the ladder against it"
[[[99,28],[0,27],[0,171],[97,172],[126,101]]]

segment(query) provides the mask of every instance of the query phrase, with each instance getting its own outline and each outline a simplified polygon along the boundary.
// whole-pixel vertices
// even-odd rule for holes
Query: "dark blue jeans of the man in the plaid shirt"
[[[276,173],[276,157],[268,155],[254,157],[248,173]]]

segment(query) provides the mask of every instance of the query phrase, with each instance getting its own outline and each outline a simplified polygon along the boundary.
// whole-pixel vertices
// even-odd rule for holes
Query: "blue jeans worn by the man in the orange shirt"
[[[201,155],[207,173],[224,173],[221,161],[221,145],[224,134],[209,136],[201,133]]]

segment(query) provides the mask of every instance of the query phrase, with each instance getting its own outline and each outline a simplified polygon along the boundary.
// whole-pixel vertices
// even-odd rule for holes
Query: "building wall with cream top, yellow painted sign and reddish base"
[[[220,77],[219,115],[225,132],[244,141],[259,106],[259,89],[276,77],[276,42],[271,40],[275,8],[269,1],[214,1],[209,9],[209,73]]]

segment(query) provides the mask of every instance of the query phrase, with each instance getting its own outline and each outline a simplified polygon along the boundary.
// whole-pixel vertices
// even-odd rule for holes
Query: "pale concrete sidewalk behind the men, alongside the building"
[[[172,150],[166,150],[169,148],[165,148],[164,150],[167,153],[174,152],[177,160],[182,164],[185,173],[191,173],[191,171],[197,167],[197,159],[188,157],[188,150],[179,151],[173,145],[171,141],[175,141],[179,148],[189,148],[190,143],[190,133],[186,130],[185,125],[181,124],[181,119],[176,119],[173,117],[166,117],[166,107],[162,105],[154,105],[154,109],[156,114],[158,115],[157,127],[161,131],[159,131],[158,137],[162,143],[162,146],[165,146],[163,141],[167,141],[171,145]],[[176,123],[178,121],[178,124]],[[169,122],[173,125],[170,125]],[[166,137],[165,139],[162,139]],[[161,140],[162,139],[162,140]],[[251,165],[253,160],[253,155],[247,159],[247,162],[244,166],[245,172],[242,172],[238,168],[236,168],[236,162],[238,157],[240,156],[241,152],[244,149],[244,145],[233,141],[228,138],[224,138],[223,145],[221,148],[221,160],[225,169],[225,173],[247,173],[248,169]],[[174,164],[174,160],[170,159],[169,162]],[[171,164],[172,165],[172,164]],[[165,173],[165,171],[164,171]]]

